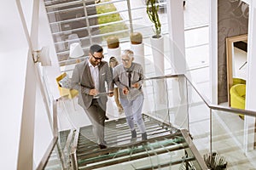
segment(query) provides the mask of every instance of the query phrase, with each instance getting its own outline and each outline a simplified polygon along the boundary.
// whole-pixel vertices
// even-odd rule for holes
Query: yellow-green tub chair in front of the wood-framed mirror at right
[[[236,84],[230,88],[230,106],[236,109],[245,109],[246,85]],[[243,115],[239,115],[242,119]]]

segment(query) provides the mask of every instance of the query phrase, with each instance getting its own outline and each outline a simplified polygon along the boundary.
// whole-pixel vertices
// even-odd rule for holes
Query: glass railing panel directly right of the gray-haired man
[[[172,127],[188,129],[188,94],[183,76],[145,81],[145,111]]]

